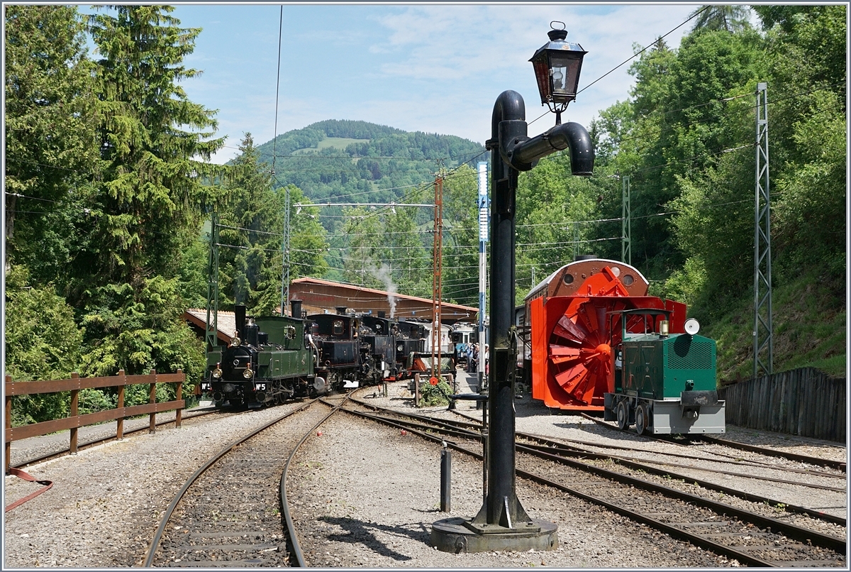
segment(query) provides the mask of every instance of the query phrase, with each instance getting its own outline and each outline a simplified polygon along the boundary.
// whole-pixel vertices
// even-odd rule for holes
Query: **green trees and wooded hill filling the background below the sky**
[[[200,72],[183,62],[203,31],[171,12],[6,7],[8,375],[182,369],[191,394],[204,348],[180,315],[206,304],[214,213],[223,309],[277,311],[285,229],[291,279],[431,296],[434,210],[398,205],[433,203],[438,179],[444,299],[477,306],[481,144],[328,120],[262,144],[245,133],[237,158],[210,163],[225,145],[215,112],[180,88]],[[756,90],[766,83],[774,370],[844,375],[846,7],[695,12],[678,46],[635,46],[625,100],[585,126],[593,176],[571,176],[567,153],[520,174],[517,302],[575,255],[620,260],[629,186],[632,265],[651,294],[686,302],[717,340],[722,380],[747,378]],[[545,129],[533,123],[529,134]],[[317,206],[328,202],[374,204]],[[66,413],[66,400],[15,399],[15,423]],[[80,412],[114,399],[81,392]]]

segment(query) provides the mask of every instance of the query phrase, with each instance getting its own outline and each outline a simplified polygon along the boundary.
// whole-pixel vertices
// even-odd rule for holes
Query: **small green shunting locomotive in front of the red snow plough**
[[[620,314],[623,341],[615,353],[614,392],[603,396],[603,418],[617,421],[621,430],[634,424],[639,435],[723,433],[715,340],[697,335],[697,320],[686,321],[684,334],[669,334],[667,310],[612,314]],[[648,333],[626,332],[627,318],[634,315],[643,317]]]

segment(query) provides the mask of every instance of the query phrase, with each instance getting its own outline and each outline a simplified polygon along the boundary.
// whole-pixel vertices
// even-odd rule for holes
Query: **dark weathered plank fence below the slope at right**
[[[727,401],[728,423],[844,443],[845,386],[801,368],[722,387],[718,397]]]

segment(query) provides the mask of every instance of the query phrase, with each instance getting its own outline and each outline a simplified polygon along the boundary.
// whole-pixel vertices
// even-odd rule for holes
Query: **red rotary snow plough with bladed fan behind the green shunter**
[[[557,409],[603,411],[603,393],[614,392],[620,351],[620,310],[671,311],[671,334],[685,331],[686,306],[648,296],[648,281],[615,260],[577,260],[559,268],[526,297],[532,397]],[[628,318],[626,331],[653,331],[646,316]],[[531,361],[531,363],[529,363]],[[620,366],[620,361],[618,362]]]

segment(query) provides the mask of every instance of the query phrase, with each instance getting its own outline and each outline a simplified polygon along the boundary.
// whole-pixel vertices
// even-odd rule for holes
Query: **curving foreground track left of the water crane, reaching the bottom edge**
[[[300,445],[347,397],[293,404],[213,455],[174,496],[144,565],[303,567],[286,501],[287,469]]]

